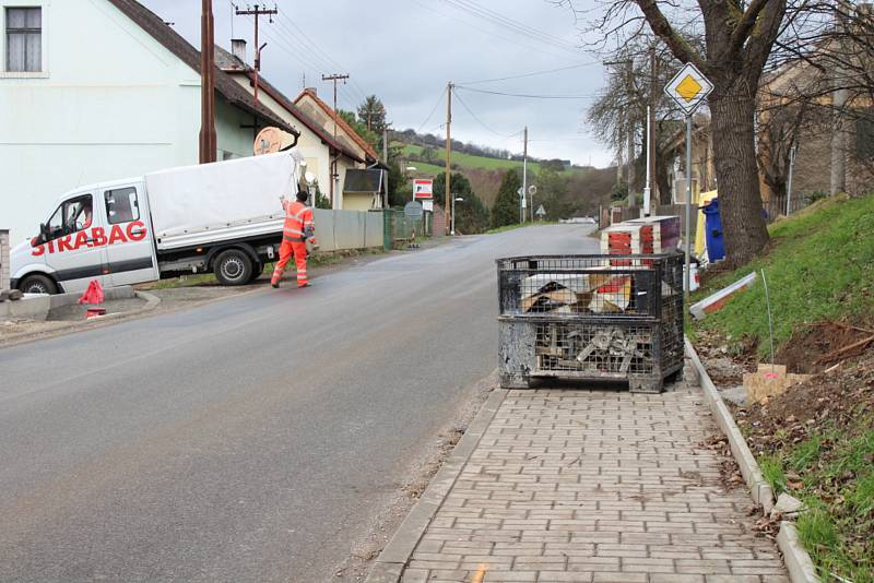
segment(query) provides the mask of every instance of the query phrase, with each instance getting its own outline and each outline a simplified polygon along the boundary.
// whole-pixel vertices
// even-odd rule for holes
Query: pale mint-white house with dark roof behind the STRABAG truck
[[[0,228],[78,186],[197,164],[200,53],[134,0],[0,0]],[[297,133],[215,69],[218,159]]]

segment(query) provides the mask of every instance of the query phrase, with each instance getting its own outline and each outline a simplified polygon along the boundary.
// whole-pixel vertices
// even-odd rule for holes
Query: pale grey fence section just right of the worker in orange
[[[321,251],[382,247],[382,213],[315,210],[316,239]]]

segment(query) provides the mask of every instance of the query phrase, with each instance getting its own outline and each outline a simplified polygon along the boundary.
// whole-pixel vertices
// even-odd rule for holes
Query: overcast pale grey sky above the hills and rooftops
[[[200,43],[200,2],[140,1]],[[261,41],[269,43],[261,73],[291,97],[306,75],[306,84],[330,100],[331,85],[321,74],[349,73],[340,107],[354,109],[365,95],[376,94],[393,128],[445,135],[448,81],[488,92],[582,96],[534,99],[460,86],[452,138],[521,152],[528,124],[532,156],[595,166],[611,162],[584,128],[586,108],[603,84],[602,68],[576,48],[581,39],[571,14],[548,0],[276,0],[276,8],[272,24],[261,20]],[[232,17],[229,0],[214,0],[214,11],[216,43],[229,48],[232,34],[246,38],[251,62],[252,19]],[[473,83],[559,68],[565,70]]]

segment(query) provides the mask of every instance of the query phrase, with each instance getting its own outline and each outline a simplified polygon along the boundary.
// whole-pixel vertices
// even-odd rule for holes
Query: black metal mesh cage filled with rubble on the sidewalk
[[[530,379],[623,379],[653,392],[683,366],[683,258],[498,260],[505,386]]]

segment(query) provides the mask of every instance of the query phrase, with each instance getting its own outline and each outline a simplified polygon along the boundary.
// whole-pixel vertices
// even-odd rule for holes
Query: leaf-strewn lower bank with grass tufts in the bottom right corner
[[[807,505],[799,535],[823,581],[874,582],[874,358],[814,377],[742,420],[775,492]]]

